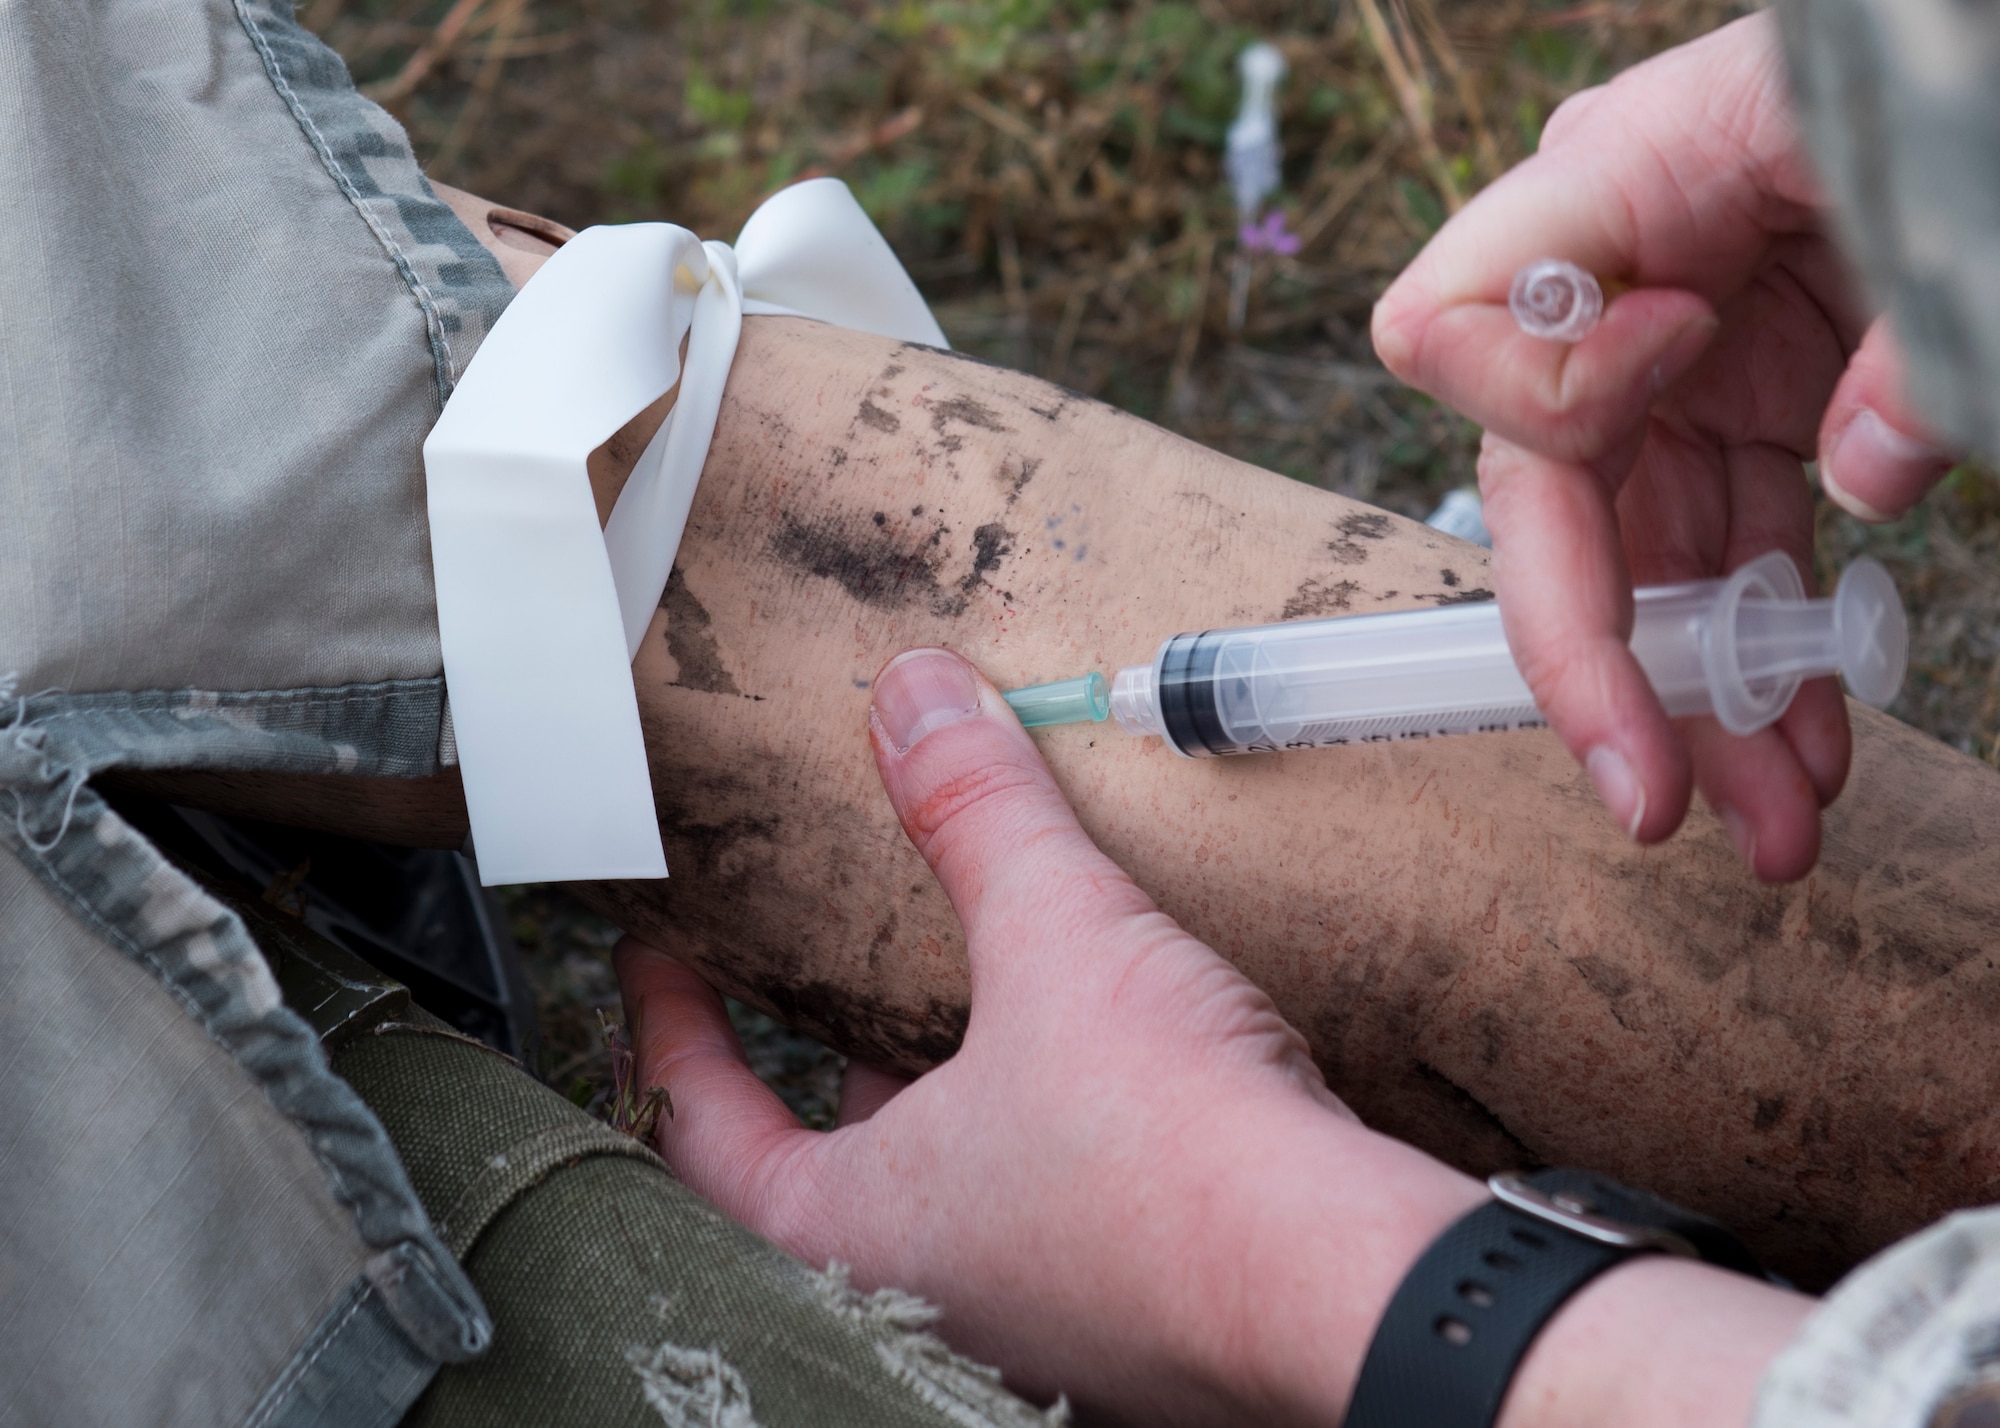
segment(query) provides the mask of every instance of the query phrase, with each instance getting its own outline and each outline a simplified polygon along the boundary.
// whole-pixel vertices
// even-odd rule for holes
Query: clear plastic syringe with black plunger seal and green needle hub
[[[1872,560],[1848,566],[1830,600],[1808,600],[1782,552],[1634,594],[1632,654],[1666,712],[1714,714],[1732,734],[1774,724],[1822,674],[1888,704],[1908,648],[1896,586]],[[1196,758],[1544,724],[1490,600],[1176,634],[1110,686],[1086,674],[1006,698],[1028,726],[1110,716]]]

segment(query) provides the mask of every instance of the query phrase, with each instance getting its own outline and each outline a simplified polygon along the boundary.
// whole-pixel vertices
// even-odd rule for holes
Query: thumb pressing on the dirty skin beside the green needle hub
[[[1172,926],[1090,842],[1020,720],[960,656],[908,650],[884,664],[868,726],[890,804],[966,930],[974,1008],[1012,968],[1046,980],[1122,918]]]

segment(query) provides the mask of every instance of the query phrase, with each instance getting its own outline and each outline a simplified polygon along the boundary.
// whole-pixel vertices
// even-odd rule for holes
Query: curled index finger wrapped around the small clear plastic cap
[[[1612,444],[1694,360],[1694,332],[1772,236],[1810,224],[1786,104],[1768,16],[1628,70],[1582,108],[1572,100],[1542,152],[1474,198],[1384,294],[1382,360],[1518,444],[1566,460]],[[1526,338],[1506,294],[1536,258],[1636,290],[1576,348]],[[1578,416],[1588,432],[1572,430]]]

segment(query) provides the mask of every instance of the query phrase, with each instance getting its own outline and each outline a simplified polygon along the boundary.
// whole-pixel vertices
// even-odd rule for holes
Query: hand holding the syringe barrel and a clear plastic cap
[[[1578,342],[1528,336],[1508,310],[1516,274],[1550,256],[1604,286]],[[1666,838],[1700,786],[1762,878],[1802,876],[1848,772],[1836,686],[1808,680],[1738,738],[1670,722],[1630,642],[1636,586],[1774,550],[1812,568],[1806,460],[1862,518],[1900,514],[1948,468],[1822,232],[1770,16],[1564,104],[1540,152],[1396,280],[1374,340],[1486,428],[1500,618],[1618,824]]]

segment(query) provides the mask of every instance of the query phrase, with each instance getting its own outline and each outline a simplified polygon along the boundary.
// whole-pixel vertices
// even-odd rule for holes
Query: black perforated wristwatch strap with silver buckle
[[[1344,1428],[1492,1428],[1528,1344],[1576,1290],[1638,1254],[1766,1278],[1714,1220],[1588,1170],[1498,1174],[1424,1250],[1376,1326]]]

